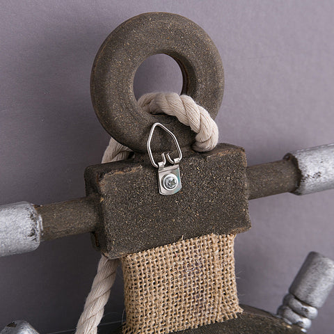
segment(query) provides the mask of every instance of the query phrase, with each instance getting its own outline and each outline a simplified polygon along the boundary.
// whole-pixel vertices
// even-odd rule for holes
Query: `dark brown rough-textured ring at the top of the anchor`
[[[176,118],[152,116],[139,109],[134,97],[134,74],[154,54],[167,54],[183,74],[182,93],[193,97],[215,118],[223,98],[223,65],[209,35],[186,17],[172,13],[145,13],[120,24],[97,52],[90,80],[95,113],[106,132],[137,152],[146,151],[154,122],[161,122],[181,147],[195,134]],[[170,138],[158,132],[154,152],[168,150]]]

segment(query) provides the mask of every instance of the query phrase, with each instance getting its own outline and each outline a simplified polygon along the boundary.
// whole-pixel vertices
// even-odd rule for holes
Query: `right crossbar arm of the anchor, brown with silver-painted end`
[[[334,143],[287,153],[283,160],[250,166],[246,173],[249,200],[333,189]]]

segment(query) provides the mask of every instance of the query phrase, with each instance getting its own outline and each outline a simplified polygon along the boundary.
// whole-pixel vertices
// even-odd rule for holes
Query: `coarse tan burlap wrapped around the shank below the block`
[[[122,259],[124,334],[167,334],[242,312],[234,273],[234,234],[210,234]]]

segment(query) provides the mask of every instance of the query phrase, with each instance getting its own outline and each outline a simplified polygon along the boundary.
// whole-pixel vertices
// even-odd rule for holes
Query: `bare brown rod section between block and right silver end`
[[[294,191],[301,175],[292,161],[280,160],[247,167],[248,199]]]

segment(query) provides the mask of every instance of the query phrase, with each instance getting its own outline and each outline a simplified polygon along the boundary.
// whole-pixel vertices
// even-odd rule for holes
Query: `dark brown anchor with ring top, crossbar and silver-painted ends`
[[[194,152],[195,134],[189,127],[171,116],[145,113],[134,97],[138,66],[160,53],[180,65],[182,93],[205,107],[212,118],[216,116],[223,98],[223,65],[207,33],[189,19],[170,13],[146,13],[124,22],[97,53],[91,96],[104,129],[131,148],[134,156],[86,168],[86,197],[0,207],[1,256],[34,250],[40,241],[90,232],[95,248],[109,259],[118,259],[173,244],[182,236],[244,232],[250,228],[248,200],[254,198],[334,188],[334,144],[289,152],[279,161],[257,166],[246,166],[244,149],[230,144]],[[175,135],[183,156],[182,189],[170,196],[159,193],[146,147],[157,122]],[[154,133],[152,156],[170,152],[172,145],[166,132]],[[333,284],[334,262],[310,253],[278,315],[241,305],[243,312],[235,319],[182,333],[301,333],[310,328]],[[1,333],[33,331],[24,321],[14,321]]]

